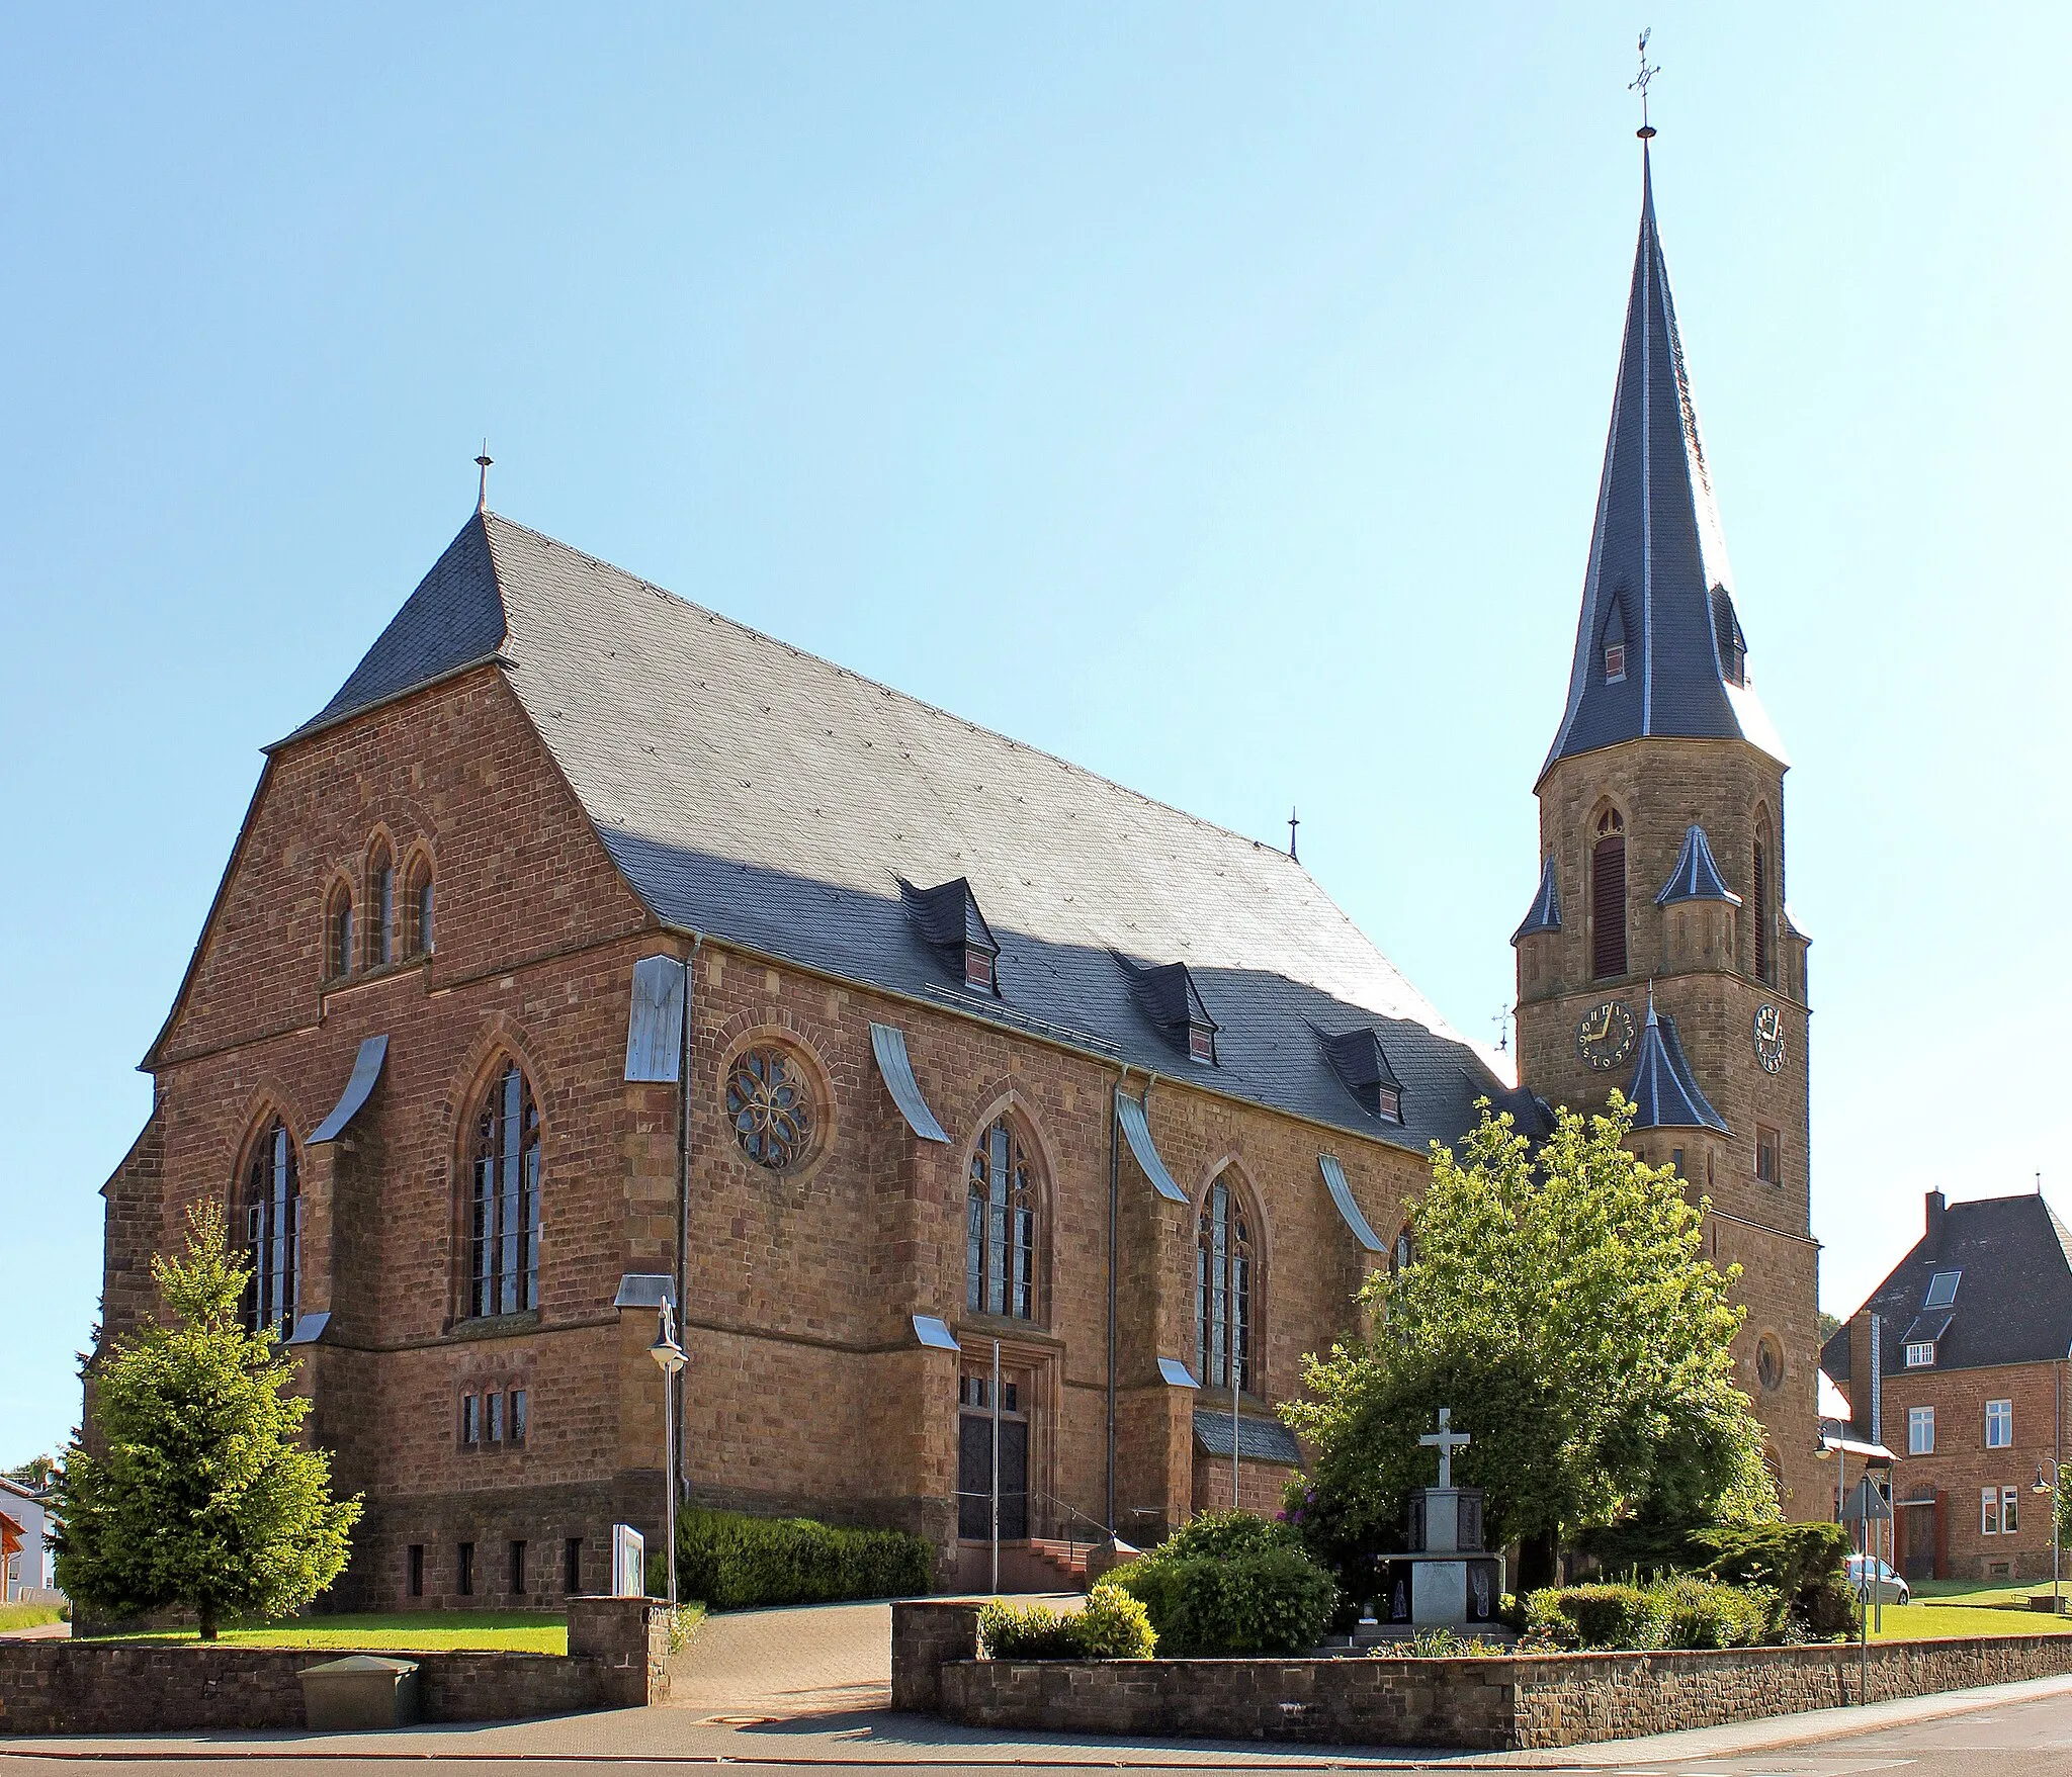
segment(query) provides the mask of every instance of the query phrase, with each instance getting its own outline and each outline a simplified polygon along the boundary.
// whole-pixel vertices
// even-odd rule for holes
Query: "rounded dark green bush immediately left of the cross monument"
[[[1115,1582],[1144,1603],[1169,1655],[1307,1653],[1339,1586],[1287,1524],[1254,1512],[1206,1512]]]

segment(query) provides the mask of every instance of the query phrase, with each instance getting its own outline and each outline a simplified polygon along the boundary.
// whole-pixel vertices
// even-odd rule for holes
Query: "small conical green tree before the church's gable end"
[[[79,1435],[58,1475],[58,1584],[95,1611],[284,1615],[338,1578],[361,1502],[332,1499],[332,1458],[300,1441],[309,1400],[271,1334],[244,1328],[251,1278],[213,1203],[184,1257],[151,1276],[164,1317],[116,1340],[93,1373],[102,1454]]]

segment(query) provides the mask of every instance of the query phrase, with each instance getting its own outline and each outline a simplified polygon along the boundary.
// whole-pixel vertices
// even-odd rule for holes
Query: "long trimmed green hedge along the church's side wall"
[[[661,1555],[651,1557],[651,1574]],[[934,1545],[908,1531],[841,1531],[812,1518],[682,1510],[675,1589],[715,1611],[926,1593]],[[653,1589],[653,1578],[651,1578]]]

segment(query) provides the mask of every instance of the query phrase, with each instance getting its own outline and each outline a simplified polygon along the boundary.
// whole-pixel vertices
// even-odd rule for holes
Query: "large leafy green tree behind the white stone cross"
[[[1620,1145],[1631,1123],[1614,1094],[1531,1152],[1484,1104],[1459,1158],[1432,1145],[1413,1259],[1363,1292],[1372,1338],[1312,1357],[1310,1398],[1283,1408],[1316,1450],[1293,1510],[1341,1568],[1394,1545],[1440,1406],[1473,1437],[1455,1475],[1486,1489],[1492,1547],[1521,1543],[1521,1586],[1591,1526],[1776,1516],[1728,1350],[1738,1268],[1705,1261],[1703,1212]]]

